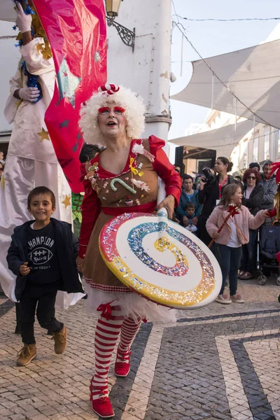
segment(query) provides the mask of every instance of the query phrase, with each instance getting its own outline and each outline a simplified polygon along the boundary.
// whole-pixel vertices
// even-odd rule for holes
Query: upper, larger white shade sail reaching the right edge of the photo
[[[256,121],[280,128],[279,39],[205,61],[230,91],[257,114]],[[172,99],[211,108],[212,74],[202,59],[193,62],[190,83]],[[235,97],[214,76],[213,109],[235,114],[235,106]],[[253,119],[253,114],[240,102],[237,115]]]

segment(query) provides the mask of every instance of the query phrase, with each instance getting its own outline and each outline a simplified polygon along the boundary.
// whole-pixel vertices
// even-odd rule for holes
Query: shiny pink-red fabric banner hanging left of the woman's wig
[[[80,106],[106,83],[103,0],[33,0],[52,48],[57,73],[45,124],[71,190],[83,191],[78,156]]]

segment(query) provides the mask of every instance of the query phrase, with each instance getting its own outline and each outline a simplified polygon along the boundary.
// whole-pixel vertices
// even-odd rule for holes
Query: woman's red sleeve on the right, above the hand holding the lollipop
[[[150,151],[155,156],[153,169],[164,181],[166,194],[174,196],[175,207],[178,207],[182,189],[181,176],[174,170],[174,165],[169,162],[166,153],[162,150],[162,147],[165,146],[165,141],[151,136],[149,137],[149,143]]]

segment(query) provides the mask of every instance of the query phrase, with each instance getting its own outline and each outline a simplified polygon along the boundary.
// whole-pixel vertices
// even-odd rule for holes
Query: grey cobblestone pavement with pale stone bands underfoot
[[[180,311],[174,325],[141,326],[125,379],[110,370],[117,420],[280,420],[280,287],[240,281],[245,304]],[[36,324],[38,356],[17,367],[15,308],[0,298],[0,419],[97,419],[89,404],[96,318],[82,300],[57,318],[69,329],[62,355]]]

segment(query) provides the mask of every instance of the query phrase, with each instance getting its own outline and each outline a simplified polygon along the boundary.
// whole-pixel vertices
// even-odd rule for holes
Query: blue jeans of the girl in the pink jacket
[[[220,295],[223,295],[225,290],[225,281],[228,276],[230,281],[230,295],[232,296],[237,293],[237,279],[241,260],[241,252],[241,246],[239,246],[239,248],[231,248],[227,245],[215,245],[215,255],[223,275],[223,284],[219,293]]]

